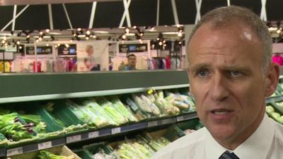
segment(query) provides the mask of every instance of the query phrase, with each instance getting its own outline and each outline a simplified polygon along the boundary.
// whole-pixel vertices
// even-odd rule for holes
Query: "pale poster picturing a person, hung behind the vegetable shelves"
[[[78,71],[108,71],[108,41],[77,43]]]

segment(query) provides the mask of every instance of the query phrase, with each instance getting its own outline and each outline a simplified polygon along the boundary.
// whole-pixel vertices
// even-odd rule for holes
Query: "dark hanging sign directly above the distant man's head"
[[[119,52],[147,52],[147,44],[120,44]]]

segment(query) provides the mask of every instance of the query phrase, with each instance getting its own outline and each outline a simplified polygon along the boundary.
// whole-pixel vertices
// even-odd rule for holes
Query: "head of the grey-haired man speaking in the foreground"
[[[226,148],[253,134],[265,114],[265,97],[277,87],[271,45],[260,18],[237,6],[207,13],[190,37],[188,74],[197,114]]]

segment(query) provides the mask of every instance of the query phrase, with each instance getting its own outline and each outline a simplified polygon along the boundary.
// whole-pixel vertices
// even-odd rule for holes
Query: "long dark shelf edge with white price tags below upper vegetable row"
[[[33,151],[39,151],[45,148],[52,148],[56,146],[62,146],[68,143],[76,143],[80,141],[86,141],[89,139],[96,139],[102,136],[111,136],[115,134],[122,134],[128,131],[135,131],[139,129],[152,128],[154,126],[162,126],[166,124],[173,124],[177,122],[183,122],[185,120],[197,118],[196,112],[188,112],[185,114],[180,114],[173,117],[164,117],[161,119],[156,119],[149,122],[139,122],[134,124],[128,124],[124,126],[117,126],[114,128],[99,129],[96,131],[89,131],[82,134],[76,134],[71,136],[66,136],[61,139],[55,139],[52,141],[44,141],[40,143],[30,143],[23,146],[17,146],[15,148],[2,148],[0,149],[0,157],[20,155],[23,153],[29,153]]]

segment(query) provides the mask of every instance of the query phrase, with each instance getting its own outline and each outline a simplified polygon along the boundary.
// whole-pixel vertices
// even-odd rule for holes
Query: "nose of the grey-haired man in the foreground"
[[[229,89],[225,76],[220,73],[216,73],[212,78],[211,88],[209,95],[213,100],[223,101],[229,97]]]

